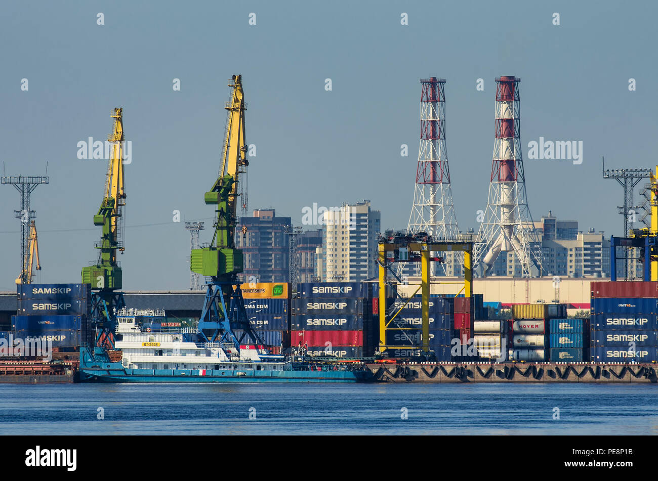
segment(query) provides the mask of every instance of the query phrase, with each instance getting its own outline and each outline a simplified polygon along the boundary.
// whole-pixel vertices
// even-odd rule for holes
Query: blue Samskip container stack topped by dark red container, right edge
[[[658,282],[591,284],[590,361],[658,361]]]

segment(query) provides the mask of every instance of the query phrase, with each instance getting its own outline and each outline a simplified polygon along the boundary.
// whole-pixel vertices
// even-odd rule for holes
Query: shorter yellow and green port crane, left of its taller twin
[[[93,216],[93,225],[101,226],[101,242],[97,260],[82,267],[82,283],[91,285],[91,322],[99,329],[97,346],[113,347],[114,311],[124,308],[122,273],[116,260],[116,252],[123,254],[123,208],[126,205],[124,190],[124,129],[123,108],[114,108],[112,133],[107,140],[112,145],[112,154],[105,176],[105,193],[98,214]]]

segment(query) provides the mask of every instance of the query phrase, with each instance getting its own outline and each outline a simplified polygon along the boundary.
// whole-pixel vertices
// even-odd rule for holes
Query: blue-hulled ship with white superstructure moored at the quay
[[[367,382],[360,363],[318,362],[304,356],[269,354],[265,346],[204,342],[193,328],[145,327],[139,318],[164,318],[120,309],[114,349],[80,348],[80,380],[101,382]]]

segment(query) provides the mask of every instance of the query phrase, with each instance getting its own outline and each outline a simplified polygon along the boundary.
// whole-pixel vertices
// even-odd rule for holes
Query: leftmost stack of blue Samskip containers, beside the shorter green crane
[[[14,338],[51,341],[53,348],[72,351],[93,342],[88,326],[89,284],[22,284],[17,289]]]

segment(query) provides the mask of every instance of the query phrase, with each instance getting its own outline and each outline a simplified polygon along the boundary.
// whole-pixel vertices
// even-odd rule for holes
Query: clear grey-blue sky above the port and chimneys
[[[0,135],[7,175],[43,175],[32,196],[43,283],[80,281],[97,253],[92,217],[107,165],[78,160],[124,108],[124,288],[184,289],[190,235],[208,219],[232,74],[243,76],[249,207],[301,209],[369,199],[382,226],[409,219],[418,154],[420,78],[447,80],[446,137],[455,213],[477,229],[493,149],[495,82],[521,79],[528,202],[580,229],[621,234],[622,192],[601,175],[655,166],[658,93],[652,2],[5,2],[0,20]],[[631,7],[628,7],[631,5]],[[103,12],[105,25],[97,25]],[[249,25],[249,14],[256,25]],[[409,24],[401,25],[401,13]],[[552,24],[553,13],[560,25]],[[23,78],[29,90],[21,91]],[[172,80],[179,78],[180,91]],[[324,80],[332,79],[332,91]],[[476,90],[478,78],[484,91]],[[628,80],[636,80],[629,91]],[[529,160],[527,145],[583,143],[583,163]],[[400,145],[409,156],[400,156]],[[0,290],[19,269],[18,193],[0,187]],[[202,233],[202,242],[211,232]]]

